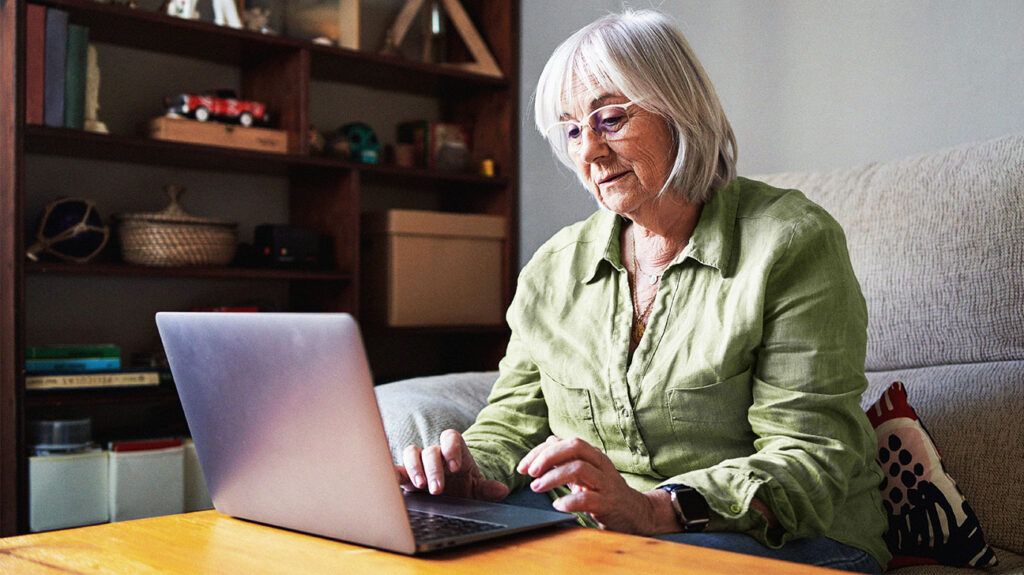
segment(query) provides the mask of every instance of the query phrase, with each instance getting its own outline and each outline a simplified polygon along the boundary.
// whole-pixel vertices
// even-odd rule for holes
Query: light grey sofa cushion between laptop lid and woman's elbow
[[[466,431],[487,403],[498,371],[450,373],[377,386],[377,404],[391,458],[401,462],[407,445],[437,443],[446,429]]]

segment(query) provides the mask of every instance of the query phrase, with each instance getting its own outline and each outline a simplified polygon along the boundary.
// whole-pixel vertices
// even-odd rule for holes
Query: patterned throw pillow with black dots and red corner
[[[942,468],[928,430],[896,382],[867,409],[886,474],[889,569],[908,565],[991,567],[997,563],[981,525],[953,478]]]

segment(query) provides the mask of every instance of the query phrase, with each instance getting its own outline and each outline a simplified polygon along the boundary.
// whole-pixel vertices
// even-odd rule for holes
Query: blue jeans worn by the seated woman
[[[545,493],[520,489],[503,501],[510,505],[551,511],[551,499]],[[656,539],[700,547],[711,547],[737,554],[766,557],[794,563],[804,563],[854,573],[882,573],[879,563],[867,552],[844,545],[828,537],[796,539],[780,549],[766,547],[745,533],[669,533]]]

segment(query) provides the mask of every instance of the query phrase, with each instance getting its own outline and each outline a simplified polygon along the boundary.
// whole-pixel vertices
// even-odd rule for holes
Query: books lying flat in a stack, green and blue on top
[[[122,368],[113,344],[30,347],[25,357],[27,390],[159,386],[170,378],[154,367]]]

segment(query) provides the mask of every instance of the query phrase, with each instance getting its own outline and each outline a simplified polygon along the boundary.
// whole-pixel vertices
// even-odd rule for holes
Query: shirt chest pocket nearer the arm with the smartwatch
[[[751,370],[727,380],[694,388],[669,388],[666,397],[669,418],[677,437],[711,441],[716,447],[752,440],[748,410],[754,402]]]

